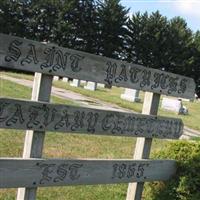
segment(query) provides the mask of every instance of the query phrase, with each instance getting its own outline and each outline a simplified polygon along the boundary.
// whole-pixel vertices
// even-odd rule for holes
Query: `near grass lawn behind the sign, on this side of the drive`
[[[117,90],[116,90],[117,91]],[[31,89],[0,79],[0,96],[30,99]],[[73,104],[53,97],[52,102]],[[24,131],[0,130],[0,157],[21,157]],[[135,138],[47,133],[44,158],[132,158]],[[154,140],[152,150],[158,151],[168,141]],[[127,184],[39,188],[39,200],[124,200]],[[1,189],[1,200],[13,200],[16,189]],[[145,198],[148,200],[148,198]]]

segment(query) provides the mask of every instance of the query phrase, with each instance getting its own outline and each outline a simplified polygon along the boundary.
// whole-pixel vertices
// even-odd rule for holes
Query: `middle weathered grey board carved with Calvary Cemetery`
[[[0,128],[178,138],[180,119],[0,98]]]

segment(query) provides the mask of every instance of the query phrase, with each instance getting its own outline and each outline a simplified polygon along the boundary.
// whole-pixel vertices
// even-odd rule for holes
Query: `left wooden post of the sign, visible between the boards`
[[[52,88],[53,76],[35,73],[32,89],[32,100],[49,102]],[[45,132],[26,131],[23,158],[41,158]],[[19,188],[17,200],[36,199],[37,188]]]

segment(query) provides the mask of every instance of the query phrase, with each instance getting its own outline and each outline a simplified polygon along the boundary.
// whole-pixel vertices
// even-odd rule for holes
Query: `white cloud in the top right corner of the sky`
[[[180,13],[200,18],[199,0],[176,0],[174,5]]]

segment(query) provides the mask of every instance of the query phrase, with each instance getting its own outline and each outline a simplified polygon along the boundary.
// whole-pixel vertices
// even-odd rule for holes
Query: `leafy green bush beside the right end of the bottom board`
[[[200,141],[170,142],[153,157],[175,159],[178,168],[167,182],[147,183],[145,200],[200,200]]]

